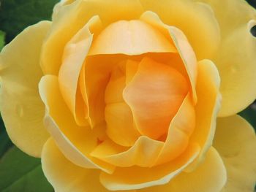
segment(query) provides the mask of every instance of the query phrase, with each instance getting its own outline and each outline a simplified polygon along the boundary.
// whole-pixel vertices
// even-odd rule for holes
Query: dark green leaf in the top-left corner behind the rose
[[[40,20],[50,20],[58,0],[0,0],[0,29],[10,42],[24,28]]]

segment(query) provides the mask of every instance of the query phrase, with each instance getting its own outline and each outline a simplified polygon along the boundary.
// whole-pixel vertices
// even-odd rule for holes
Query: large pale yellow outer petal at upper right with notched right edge
[[[250,33],[256,25],[256,10],[244,0],[200,1],[214,10],[222,34],[222,45],[214,56],[222,79],[219,116],[234,115],[256,98],[256,38]]]

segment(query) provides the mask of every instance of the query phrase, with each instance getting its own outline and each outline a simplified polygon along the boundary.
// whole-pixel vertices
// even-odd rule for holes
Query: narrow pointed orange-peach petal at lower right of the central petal
[[[163,164],[177,158],[189,145],[189,137],[195,128],[195,108],[190,95],[187,95],[180,109],[170,123],[165,145],[162,147],[156,164]]]

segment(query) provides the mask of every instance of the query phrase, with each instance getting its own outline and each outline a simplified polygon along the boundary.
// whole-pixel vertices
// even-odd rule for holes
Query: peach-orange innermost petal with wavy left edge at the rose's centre
[[[143,58],[123,96],[140,134],[158,139],[167,133],[188,91],[186,79],[176,69]]]

